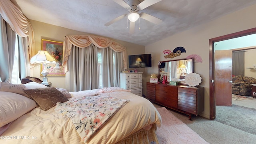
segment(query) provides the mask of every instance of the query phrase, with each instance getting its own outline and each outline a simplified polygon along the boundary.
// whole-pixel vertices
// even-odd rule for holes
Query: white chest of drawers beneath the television
[[[120,72],[120,87],[142,96],[143,72]]]

